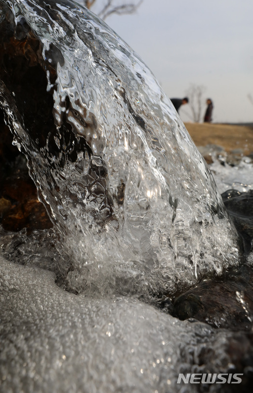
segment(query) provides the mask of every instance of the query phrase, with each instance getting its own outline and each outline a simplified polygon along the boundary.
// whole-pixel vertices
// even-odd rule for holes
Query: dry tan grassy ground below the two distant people
[[[185,126],[197,146],[214,143],[228,153],[235,149],[241,149],[245,156],[253,153],[253,127],[209,123],[185,123]]]

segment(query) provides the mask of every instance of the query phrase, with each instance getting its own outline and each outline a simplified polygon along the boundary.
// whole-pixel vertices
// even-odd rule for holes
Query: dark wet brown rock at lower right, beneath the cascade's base
[[[175,300],[174,316],[249,331],[253,321],[252,282],[253,269],[248,266],[232,270],[222,279],[202,280]]]

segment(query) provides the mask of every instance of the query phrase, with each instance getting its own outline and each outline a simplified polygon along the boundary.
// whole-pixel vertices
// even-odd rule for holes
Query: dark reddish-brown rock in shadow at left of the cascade
[[[52,227],[47,211],[38,201],[35,184],[29,176],[27,160],[12,144],[13,135],[0,111],[0,224],[5,230]]]

